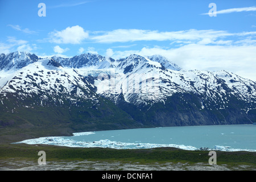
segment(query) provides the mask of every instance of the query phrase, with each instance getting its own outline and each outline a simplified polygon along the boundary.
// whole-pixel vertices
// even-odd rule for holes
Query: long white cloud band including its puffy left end
[[[113,31],[85,31],[80,26],[67,27],[61,31],[49,33],[49,37],[44,41],[57,44],[81,44],[84,40],[93,43],[129,43],[141,41],[169,41],[170,45],[183,46],[184,44],[202,45],[230,45],[233,38],[245,39],[246,37],[254,40],[256,31],[230,33],[220,30],[183,30],[166,31],[139,30],[139,29],[117,29]],[[113,45],[112,48],[130,48],[131,45]]]

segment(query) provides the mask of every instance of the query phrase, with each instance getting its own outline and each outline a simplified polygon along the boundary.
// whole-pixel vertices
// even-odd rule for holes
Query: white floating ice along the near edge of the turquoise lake
[[[127,130],[126,130],[127,131]],[[123,131],[122,131],[123,132]],[[26,143],[26,144],[49,144],[49,145],[55,145],[55,146],[66,146],[66,147],[101,147],[101,148],[116,148],[116,149],[135,149],[135,148],[157,148],[157,147],[174,147],[174,148],[180,148],[183,150],[215,150],[215,151],[251,151],[255,152],[256,150],[250,150],[248,149],[249,147],[245,147],[243,149],[241,148],[232,148],[233,143],[236,141],[232,141],[233,143],[228,143],[228,142],[222,142],[223,146],[217,143],[220,143],[216,141],[216,143],[208,144],[208,146],[189,146],[189,145],[184,145],[183,142],[177,143],[176,139],[174,138],[169,138],[170,140],[166,140],[166,142],[161,140],[154,140],[154,142],[146,142],[147,140],[145,139],[144,141],[142,138],[136,138],[130,139],[126,137],[126,140],[122,140],[121,134],[117,135],[112,135],[108,133],[108,135],[101,135],[100,138],[97,136],[97,132],[83,132],[83,133],[73,133],[73,136],[81,136],[81,135],[92,135],[92,137],[85,139],[85,138],[80,138],[80,140],[75,140],[76,137],[42,137],[42,138],[36,138],[36,139],[28,139],[28,140],[23,140],[22,142],[18,143]],[[96,135],[94,135],[96,134]],[[218,135],[220,134],[225,134],[225,133],[217,133]],[[118,137],[116,137],[118,136]],[[125,135],[124,135],[125,136]],[[129,136],[129,135],[127,135]],[[95,137],[95,138],[94,138]],[[108,138],[109,137],[109,138]],[[156,135],[151,135],[152,138],[156,138]],[[92,139],[94,138],[94,139]],[[96,139],[97,138],[97,139]],[[133,140],[133,141],[132,141]],[[153,140],[150,140],[153,141]],[[159,141],[159,143],[158,143]],[[176,142],[176,144],[172,144],[172,142]],[[189,143],[189,142],[188,142]],[[193,142],[191,142],[193,143]],[[203,144],[203,143],[202,143]],[[230,146],[228,146],[230,144]],[[193,145],[193,144],[192,144]],[[212,146],[212,147],[209,147]],[[225,146],[227,145],[227,146]]]

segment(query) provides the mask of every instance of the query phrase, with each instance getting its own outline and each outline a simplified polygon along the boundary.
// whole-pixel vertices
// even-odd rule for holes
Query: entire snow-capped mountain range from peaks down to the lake
[[[0,55],[0,127],[93,131],[256,122],[256,82],[164,56]],[[61,134],[61,132],[60,132]]]

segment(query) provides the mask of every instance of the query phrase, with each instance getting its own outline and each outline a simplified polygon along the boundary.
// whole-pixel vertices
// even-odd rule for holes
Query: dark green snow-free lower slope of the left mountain
[[[77,101],[76,104],[64,100],[63,105],[50,101],[41,105],[41,101],[36,98],[39,97],[16,102],[12,95],[2,98],[0,96],[5,103],[0,105],[1,133],[7,131],[12,134],[27,135],[27,132],[32,132],[34,137],[38,137],[53,133],[55,133],[53,135],[71,135],[80,131],[129,129],[142,126],[125,111],[118,109],[104,98],[98,98],[100,102],[98,105],[82,100]]]

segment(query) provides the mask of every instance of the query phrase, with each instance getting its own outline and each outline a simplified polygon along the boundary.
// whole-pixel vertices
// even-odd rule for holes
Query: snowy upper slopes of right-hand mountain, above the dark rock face
[[[221,97],[222,105],[228,102],[230,94],[247,102],[256,99],[255,82],[232,73],[174,71],[152,62],[139,55],[126,57],[114,70],[105,71],[105,76],[96,79],[97,93],[113,100],[123,94],[125,101],[135,105],[164,102],[175,93],[204,95],[205,99],[212,101]]]

